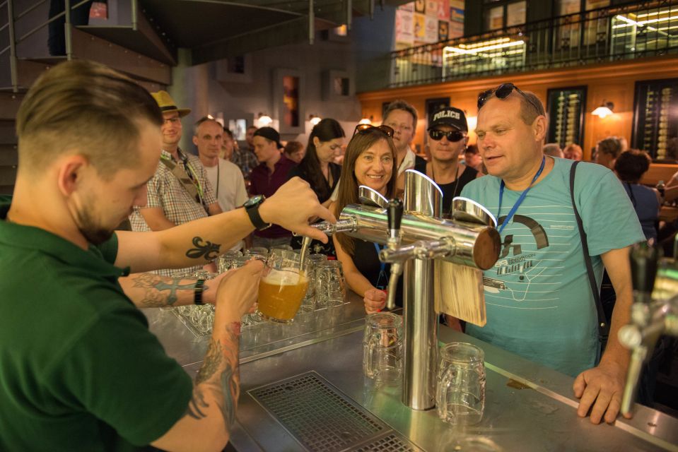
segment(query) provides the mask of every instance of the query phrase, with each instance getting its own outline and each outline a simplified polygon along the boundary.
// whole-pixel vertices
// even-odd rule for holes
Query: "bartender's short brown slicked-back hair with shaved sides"
[[[103,64],[76,60],[37,79],[16,115],[19,171],[40,172],[77,150],[104,178],[139,162],[139,122],[163,124],[156,100]]]

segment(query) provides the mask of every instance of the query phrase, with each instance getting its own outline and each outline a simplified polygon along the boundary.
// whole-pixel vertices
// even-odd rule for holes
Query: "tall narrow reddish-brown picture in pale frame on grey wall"
[[[304,133],[304,77],[296,69],[276,69],[273,77],[273,111],[279,132]]]

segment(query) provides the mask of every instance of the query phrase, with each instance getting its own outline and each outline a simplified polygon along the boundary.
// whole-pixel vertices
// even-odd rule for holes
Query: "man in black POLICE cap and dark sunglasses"
[[[469,126],[462,110],[444,107],[428,119],[431,162],[417,162],[414,169],[431,177],[443,190],[443,215],[452,210],[452,198],[459,196],[466,184],[482,174],[472,167],[459,165],[459,154],[469,142]]]

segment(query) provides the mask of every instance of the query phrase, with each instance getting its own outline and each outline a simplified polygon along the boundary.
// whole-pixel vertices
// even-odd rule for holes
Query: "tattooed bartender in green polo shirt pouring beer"
[[[118,278],[205,262],[269,222],[327,240],[308,218],[334,218],[300,179],[170,230],[112,232],[146,199],[162,120],[143,88],[87,61],[54,67],[23,100],[16,188],[11,204],[0,200],[1,451],[221,450],[239,391],[239,320],[262,264],[221,281],[194,383],[132,303],[153,281],[138,275],[130,299]]]

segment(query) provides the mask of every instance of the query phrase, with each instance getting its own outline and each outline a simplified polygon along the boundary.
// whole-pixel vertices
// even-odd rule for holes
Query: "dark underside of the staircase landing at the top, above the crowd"
[[[315,31],[379,14],[382,5],[408,0],[313,0]],[[192,63],[235,57],[267,47],[308,40],[309,0],[139,0],[174,47],[192,50]]]

